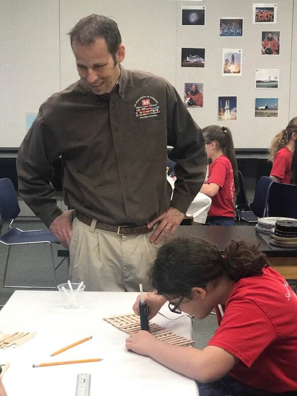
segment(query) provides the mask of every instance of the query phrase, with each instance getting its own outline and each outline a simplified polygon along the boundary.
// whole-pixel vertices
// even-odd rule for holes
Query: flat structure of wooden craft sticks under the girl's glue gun
[[[137,333],[141,330],[140,317],[135,314],[110,316],[103,319],[127,334]],[[150,333],[160,341],[180,346],[189,346],[194,343],[194,341],[179,336],[159,324],[153,322],[149,322],[149,324]]]

